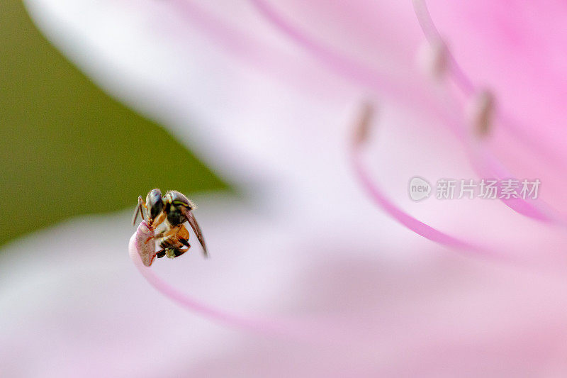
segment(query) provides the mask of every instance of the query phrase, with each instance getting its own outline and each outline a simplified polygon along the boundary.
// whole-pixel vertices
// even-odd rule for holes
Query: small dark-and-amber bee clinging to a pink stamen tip
[[[201,243],[205,257],[208,257],[203,232],[195,216],[193,216],[192,211],[195,209],[195,204],[179,191],[168,191],[162,196],[162,191],[152,189],[147,194],[145,202],[142,200],[142,196],[138,197],[132,223],[135,224],[137,216],[140,214],[152,230],[157,230],[162,225],[161,230],[155,234],[155,240],[161,248],[155,253],[155,256],[157,258],[164,256],[174,258],[183,255],[191,248],[189,230],[185,227],[187,222],[193,228],[199,243]]]

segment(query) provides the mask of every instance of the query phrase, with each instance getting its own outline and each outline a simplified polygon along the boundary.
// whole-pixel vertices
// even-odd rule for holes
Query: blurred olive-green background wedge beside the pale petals
[[[227,189],[166,130],[92,84],[21,1],[1,0],[0,22],[0,245],[72,216],[133,209],[153,187]]]

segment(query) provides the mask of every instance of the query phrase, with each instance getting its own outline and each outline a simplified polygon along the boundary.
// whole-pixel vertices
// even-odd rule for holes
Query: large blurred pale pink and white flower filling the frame
[[[426,55],[451,52],[461,71],[447,60],[448,78],[459,84],[461,72],[474,84],[461,91],[435,84],[412,64],[424,39],[418,21],[427,26],[420,2],[417,18],[409,3],[362,0],[348,9],[267,0],[27,4],[95,82],[151,113],[245,199],[200,199],[210,261],[186,254],[142,270],[156,271],[183,295],[174,299],[196,298],[201,314],[224,321],[219,325],[176,307],[136,274],[125,257],[133,231],[125,215],[74,221],[14,243],[0,260],[9,272],[0,292],[1,308],[9,309],[0,315],[9,330],[0,344],[3,371],[565,373],[558,168],[565,161],[565,62],[551,48],[561,46],[563,29],[532,33],[534,25],[559,25],[561,4],[539,4],[538,16],[525,4],[522,12],[488,1],[473,10],[463,2],[430,4],[447,50],[426,47]],[[514,62],[525,70],[510,70]],[[466,106],[485,87],[498,113],[478,140],[467,128]],[[354,162],[370,198],[349,160],[364,99],[377,116]],[[502,126],[503,117],[512,128]],[[415,174],[503,172],[541,173],[549,208],[500,201],[416,206],[406,193]],[[400,212],[409,223],[395,222]],[[412,233],[411,219],[506,258],[458,255],[471,250]],[[258,323],[250,319],[269,327],[251,329]]]

